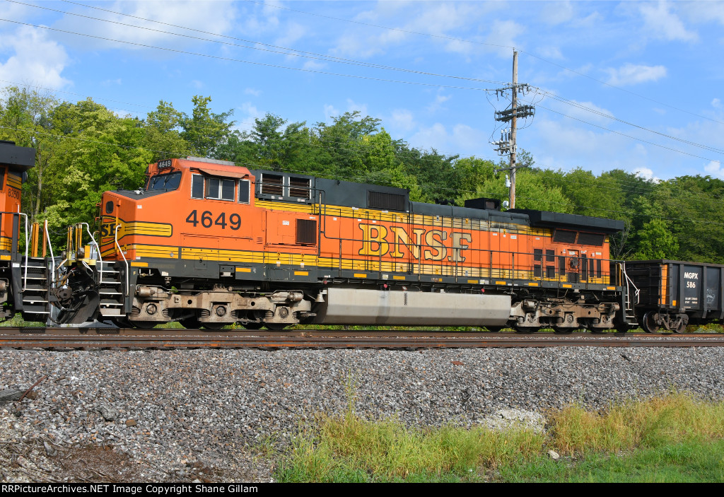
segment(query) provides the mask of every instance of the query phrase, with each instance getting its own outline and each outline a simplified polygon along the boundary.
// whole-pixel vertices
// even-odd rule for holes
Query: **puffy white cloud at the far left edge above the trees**
[[[22,26],[15,33],[2,33],[0,54],[11,54],[7,59],[0,55],[0,80],[48,88],[71,84],[61,75],[68,62],[65,48],[47,39],[43,29]]]

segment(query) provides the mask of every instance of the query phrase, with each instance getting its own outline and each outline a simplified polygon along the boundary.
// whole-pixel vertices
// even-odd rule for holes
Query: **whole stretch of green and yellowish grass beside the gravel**
[[[410,428],[348,409],[300,428],[280,454],[283,482],[724,481],[724,403],[669,394],[605,412],[566,407],[547,433],[522,425]],[[562,454],[554,461],[552,449]]]

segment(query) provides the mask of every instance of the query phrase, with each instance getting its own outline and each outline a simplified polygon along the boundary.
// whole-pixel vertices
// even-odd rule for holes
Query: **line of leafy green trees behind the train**
[[[508,197],[502,163],[445,155],[394,139],[382,121],[358,112],[330,124],[287,122],[266,114],[241,131],[233,111],[216,114],[211,98],[195,96],[190,114],[161,101],[145,119],[119,116],[88,98],[61,101],[50,93],[9,86],[0,95],[0,139],[37,150],[23,185],[25,213],[48,220],[54,244],[64,227],[92,222],[106,190],[143,187],[148,163],[202,156],[251,169],[388,184],[411,200],[463,205],[476,197]],[[621,169],[595,175],[585,158],[573,171],[527,167],[517,175],[518,208],[576,213],[624,221],[612,257],[724,263],[724,182],[682,176],[654,182]]]

